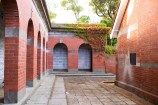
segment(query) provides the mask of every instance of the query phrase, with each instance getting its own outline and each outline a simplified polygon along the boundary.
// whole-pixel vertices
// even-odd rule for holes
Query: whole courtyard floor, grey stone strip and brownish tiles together
[[[24,105],[152,105],[115,86],[114,79],[49,75]]]

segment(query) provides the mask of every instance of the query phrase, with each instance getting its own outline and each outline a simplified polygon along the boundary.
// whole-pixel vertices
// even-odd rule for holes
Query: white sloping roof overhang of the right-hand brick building
[[[120,1],[120,6],[119,6],[119,9],[117,12],[115,23],[114,23],[114,26],[112,28],[112,32],[110,34],[111,38],[117,38],[117,36],[118,36],[118,31],[119,31],[119,28],[120,28],[127,4],[128,4],[128,0],[121,0]]]

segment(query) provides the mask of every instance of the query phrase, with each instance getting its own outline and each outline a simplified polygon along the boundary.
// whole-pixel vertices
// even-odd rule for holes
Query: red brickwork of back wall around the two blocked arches
[[[68,48],[68,70],[69,71],[78,71],[78,50],[80,45],[84,43],[84,40],[74,37],[74,36],[49,36],[48,41],[48,49],[49,53],[47,66],[48,69],[53,69],[53,48],[54,46],[62,40]],[[105,60],[103,53],[92,53],[92,64],[93,64],[93,71],[105,71]]]

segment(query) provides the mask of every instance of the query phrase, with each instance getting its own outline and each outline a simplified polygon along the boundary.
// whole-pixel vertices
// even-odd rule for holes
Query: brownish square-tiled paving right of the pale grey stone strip
[[[101,86],[108,78],[64,77],[68,105],[146,105]],[[148,104],[149,105],[149,104]],[[152,104],[150,104],[152,105]]]

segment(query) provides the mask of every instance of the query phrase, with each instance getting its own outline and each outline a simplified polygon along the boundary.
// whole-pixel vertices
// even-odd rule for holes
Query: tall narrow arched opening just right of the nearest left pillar
[[[26,50],[26,86],[32,87],[34,79],[34,27],[32,20],[29,20],[28,23]]]

